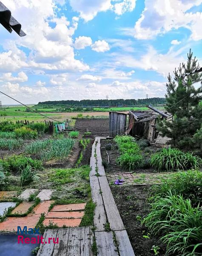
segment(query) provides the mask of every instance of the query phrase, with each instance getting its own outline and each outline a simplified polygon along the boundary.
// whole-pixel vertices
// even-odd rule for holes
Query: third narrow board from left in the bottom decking
[[[80,255],[80,236],[81,228],[72,227],[69,229],[68,245],[66,256],[79,256]]]

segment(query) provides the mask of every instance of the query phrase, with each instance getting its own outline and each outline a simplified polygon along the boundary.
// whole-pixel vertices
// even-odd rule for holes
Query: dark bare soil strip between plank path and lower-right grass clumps
[[[148,214],[148,190],[149,186],[111,186],[135,256],[154,256],[154,251],[151,250],[153,245],[159,246],[159,255],[164,256],[165,246],[159,242],[159,236],[149,235],[150,239],[143,238],[148,235],[148,229],[140,221]],[[137,219],[139,216],[141,220]]]

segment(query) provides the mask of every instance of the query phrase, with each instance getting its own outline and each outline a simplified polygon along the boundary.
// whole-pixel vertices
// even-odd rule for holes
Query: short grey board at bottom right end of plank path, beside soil
[[[119,244],[120,256],[135,256],[126,230],[114,231]]]

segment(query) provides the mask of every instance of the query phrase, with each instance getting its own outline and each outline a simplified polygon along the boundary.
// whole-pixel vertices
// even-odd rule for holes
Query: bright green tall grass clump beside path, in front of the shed
[[[123,168],[134,170],[141,166],[143,157],[139,145],[131,136],[116,136],[114,141],[117,143],[120,157],[117,163]]]

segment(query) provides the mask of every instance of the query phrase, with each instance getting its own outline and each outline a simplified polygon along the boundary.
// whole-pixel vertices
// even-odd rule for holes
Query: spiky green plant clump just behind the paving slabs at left
[[[35,170],[30,166],[27,165],[23,169],[21,169],[20,175],[20,184],[21,186],[26,186],[32,181],[39,181],[40,177],[36,175]]]

